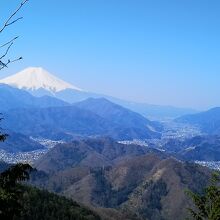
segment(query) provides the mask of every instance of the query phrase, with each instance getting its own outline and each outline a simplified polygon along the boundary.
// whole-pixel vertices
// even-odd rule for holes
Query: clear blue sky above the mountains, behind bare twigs
[[[0,20],[19,0],[1,0]],[[29,0],[0,77],[41,66],[88,91],[206,109],[220,106],[219,0]]]

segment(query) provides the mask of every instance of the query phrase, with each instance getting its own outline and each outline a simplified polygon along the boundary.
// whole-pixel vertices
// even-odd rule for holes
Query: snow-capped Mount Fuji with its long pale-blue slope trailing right
[[[196,112],[195,110],[187,108],[135,103],[102,94],[87,92],[55,77],[43,68],[27,68],[15,75],[1,79],[0,83],[26,90],[37,97],[47,95],[68,103],[80,102],[88,98],[103,97],[154,120],[176,118],[181,115]]]

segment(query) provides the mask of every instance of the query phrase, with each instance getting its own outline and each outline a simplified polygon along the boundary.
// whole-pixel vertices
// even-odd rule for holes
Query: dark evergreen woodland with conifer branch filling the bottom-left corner
[[[1,167],[4,167],[2,165]],[[71,199],[21,184],[32,168],[17,164],[0,175],[0,219],[99,220],[100,217]]]

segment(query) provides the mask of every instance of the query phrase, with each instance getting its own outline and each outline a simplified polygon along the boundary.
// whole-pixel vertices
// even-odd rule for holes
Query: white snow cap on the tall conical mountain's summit
[[[0,83],[31,91],[39,89],[44,89],[52,93],[66,89],[82,91],[80,88],[57,78],[41,67],[24,69],[15,75],[1,79]]]

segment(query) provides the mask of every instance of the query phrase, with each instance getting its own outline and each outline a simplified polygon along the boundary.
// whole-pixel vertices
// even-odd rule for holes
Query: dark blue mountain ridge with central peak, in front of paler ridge
[[[88,101],[89,102],[89,101]],[[85,101],[86,103],[88,103]],[[103,99],[93,100],[97,106]],[[4,128],[27,136],[73,139],[77,136],[111,136],[117,140],[159,138],[162,127],[128,109],[104,100],[103,116],[78,106],[12,109],[4,113]],[[78,105],[83,105],[83,103]],[[108,109],[114,113],[114,121]],[[105,113],[106,112],[106,113]],[[112,113],[113,114],[113,113]],[[117,122],[121,116],[123,118]]]

